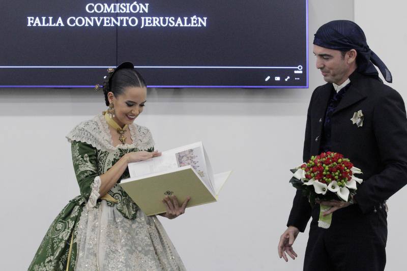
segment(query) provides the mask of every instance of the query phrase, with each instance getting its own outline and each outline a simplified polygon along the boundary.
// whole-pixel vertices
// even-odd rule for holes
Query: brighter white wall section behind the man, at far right
[[[389,84],[396,89],[407,101],[407,87],[405,80],[405,65],[407,63],[407,17],[404,1],[355,1],[355,22],[366,34],[369,47],[383,60],[393,75],[393,83]],[[383,77],[382,77],[383,78]],[[405,255],[404,245],[407,237],[403,230],[407,225],[407,188],[403,188],[389,200],[388,213],[388,241],[386,270],[403,270]]]

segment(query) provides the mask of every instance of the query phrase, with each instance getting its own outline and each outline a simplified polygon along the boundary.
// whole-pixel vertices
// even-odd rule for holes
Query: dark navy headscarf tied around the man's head
[[[360,73],[379,78],[379,73],[374,67],[377,66],[385,80],[392,82],[389,69],[382,59],[370,50],[362,28],[353,21],[330,21],[319,27],[314,36],[314,44],[317,46],[340,51],[355,49],[358,52],[357,65]]]

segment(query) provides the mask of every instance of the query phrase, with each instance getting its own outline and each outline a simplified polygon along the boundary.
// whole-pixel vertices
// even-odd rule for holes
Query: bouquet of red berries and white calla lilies
[[[303,191],[311,205],[315,204],[315,200],[339,199],[352,202],[352,196],[356,194],[358,185],[363,182],[355,176],[362,171],[339,153],[327,152],[312,156],[307,163],[291,171],[294,175],[289,182],[296,189]],[[319,227],[329,228],[331,225],[332,214],[325,217],[322,215],[329,208],[330,206],[321,205]]]

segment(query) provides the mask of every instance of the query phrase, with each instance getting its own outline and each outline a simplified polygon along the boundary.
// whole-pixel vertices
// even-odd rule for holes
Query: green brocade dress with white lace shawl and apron
[[[119,184],[108,192],[117,203],[99,199],[100,175],[126,153],[154,150],[147,128],[129,129],[133,143],[114,147],[98,115],[67,135],[80,196],[52,222],[28,270],[185,270],[159,220],[146,216]],[[127,170],[120,179],[126,177]]]

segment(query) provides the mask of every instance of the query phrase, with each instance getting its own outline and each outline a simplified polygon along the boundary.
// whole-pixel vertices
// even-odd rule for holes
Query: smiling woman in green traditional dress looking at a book
[[[98,87],[98,86],[97,86]],[[46,233],[29,270],[185,270],[155,216],[146,216],[122,190],[127,164],[161,155],[146,127],[133,124],[147,87],[133,64],[109,69],[103,83],[108,110],[67,136],[80,196]],[[185,212],[176,197],[163,199],[173,219]]]

